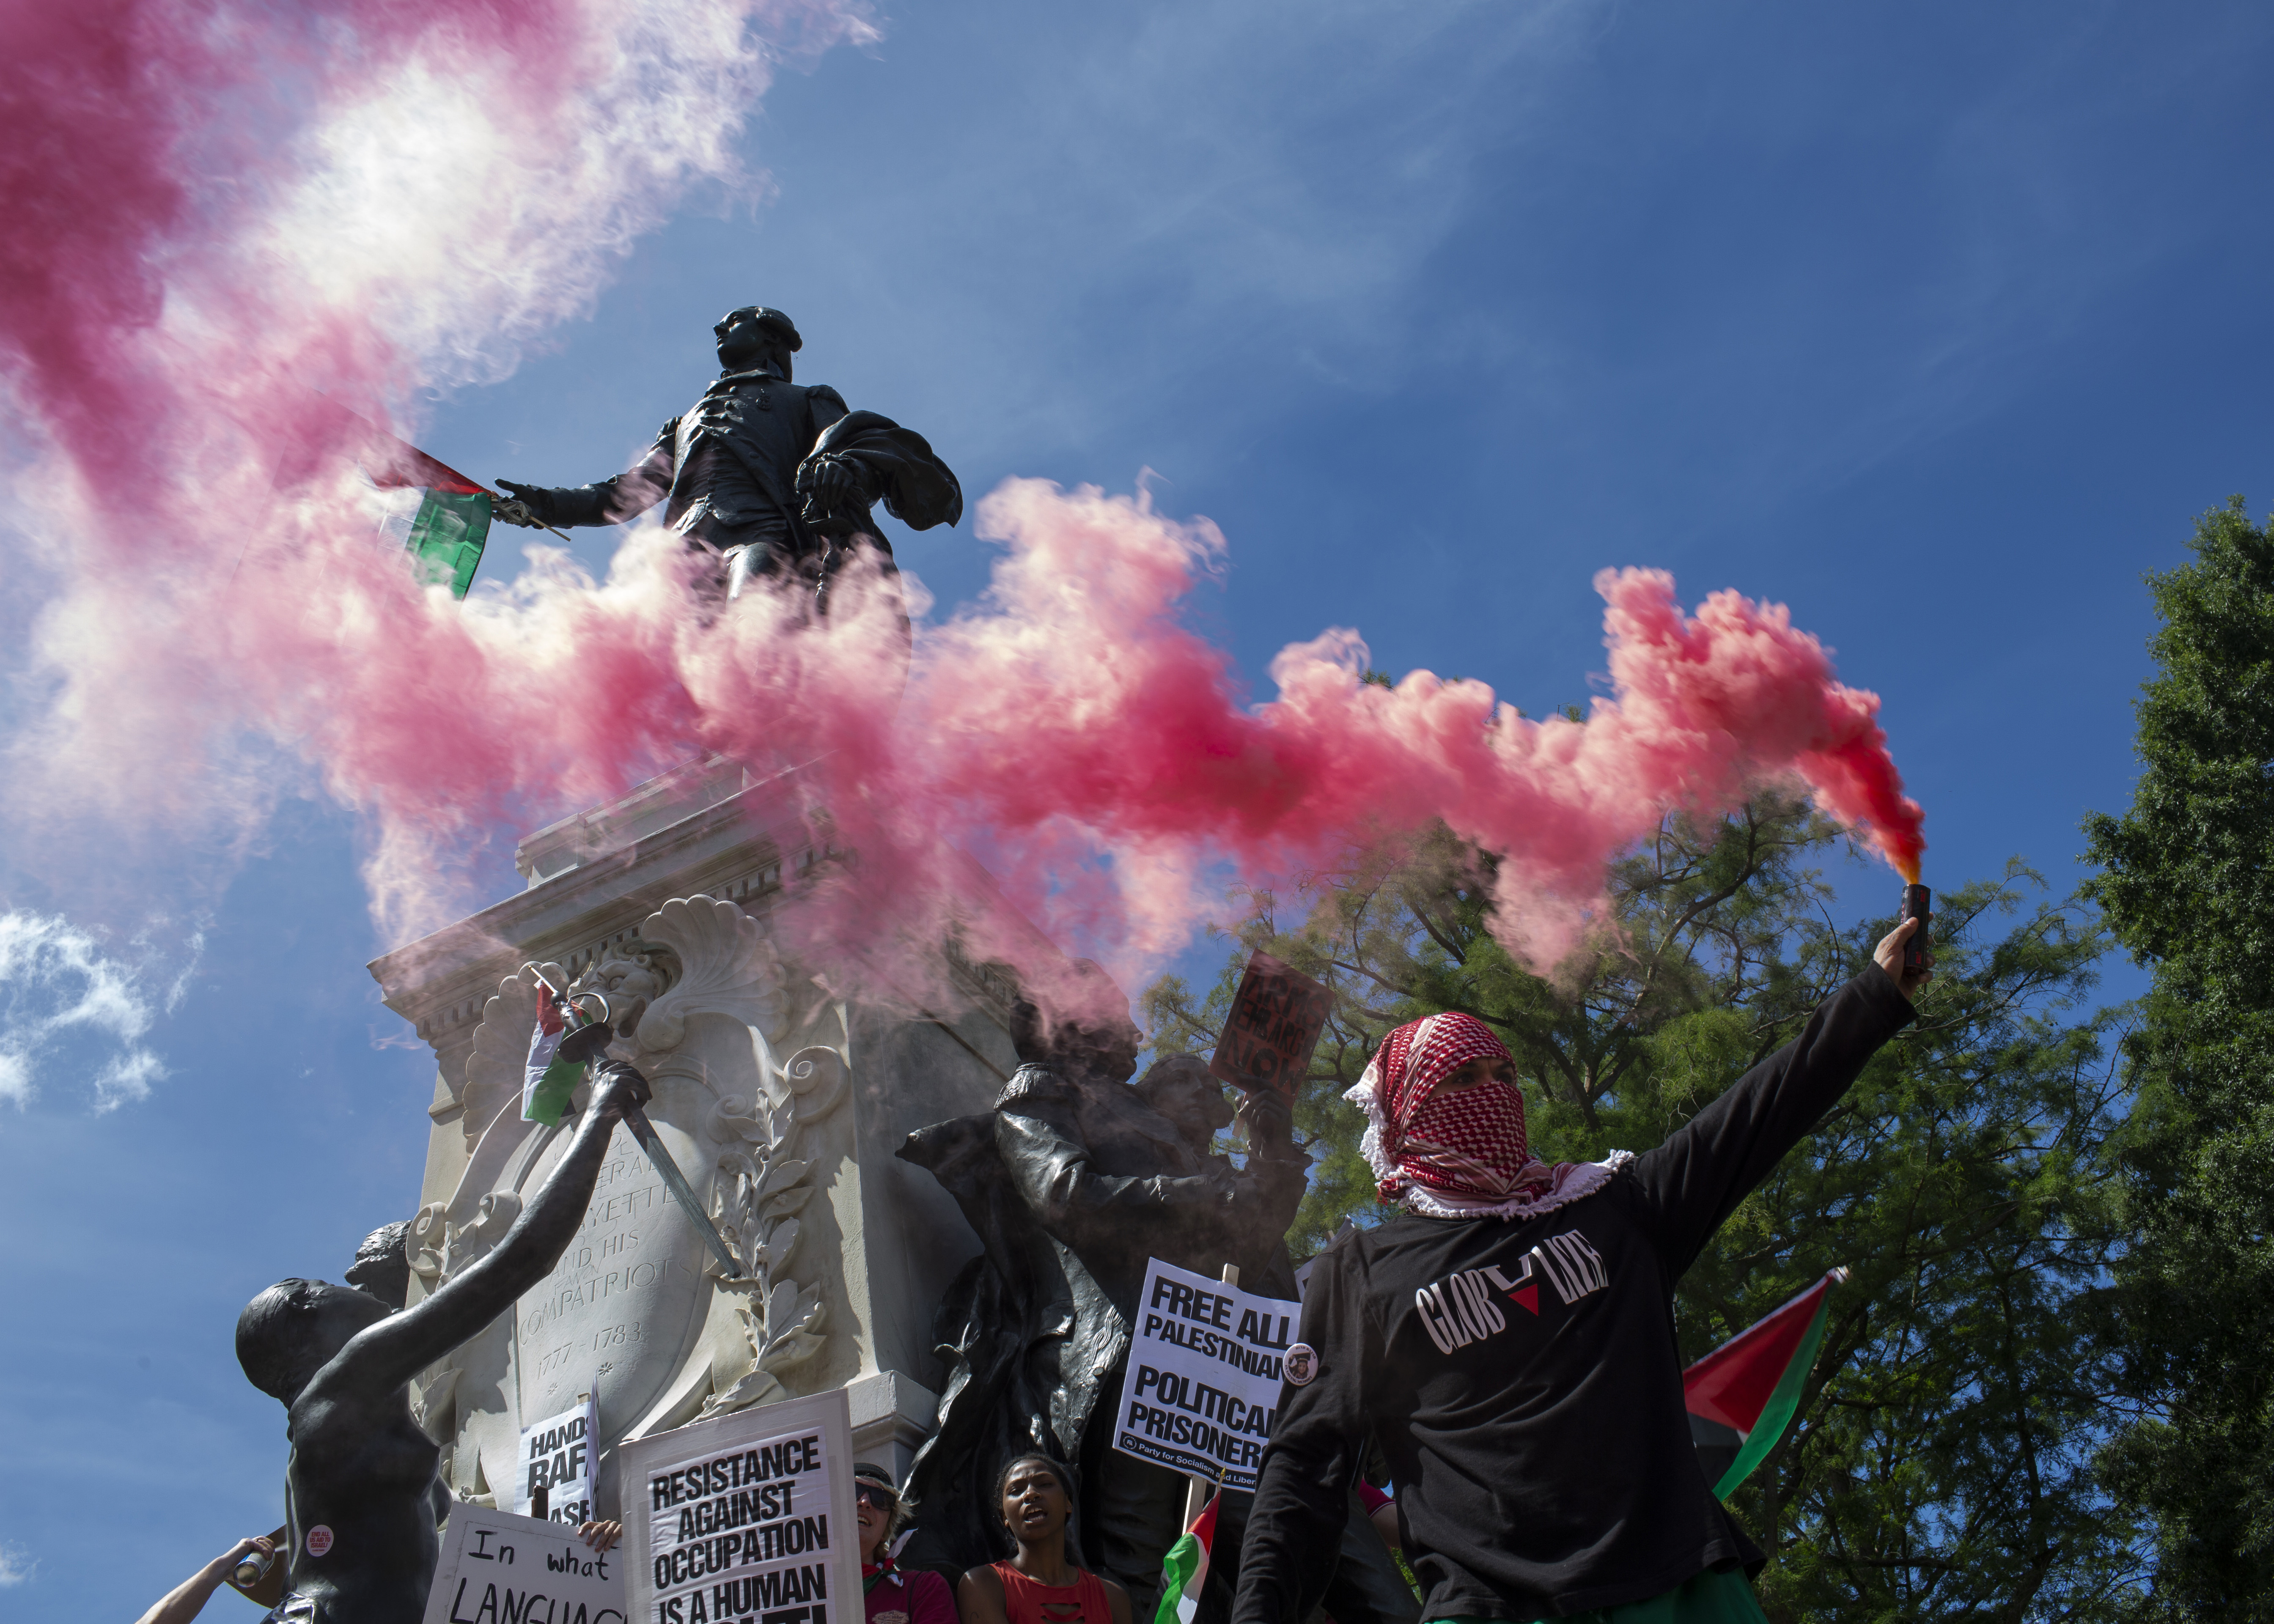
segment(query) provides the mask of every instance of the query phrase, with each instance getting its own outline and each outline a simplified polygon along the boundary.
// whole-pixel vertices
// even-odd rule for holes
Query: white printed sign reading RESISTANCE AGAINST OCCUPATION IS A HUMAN
[[[844,1390],[616,1451],[632,1624],[862,1624]]]

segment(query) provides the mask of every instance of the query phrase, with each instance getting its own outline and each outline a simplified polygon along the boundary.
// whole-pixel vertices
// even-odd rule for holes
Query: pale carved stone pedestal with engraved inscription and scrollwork
[[[1016,1067],[1014,983],[941,944],[955,1010],[819,987],[771,928],[796,905],[785,873],[830,860],[785,789],[725,762],[669,773],[528,837],[523,894],[371,964],[439,1060],[414,1301],[496,1244],[575,1124],[521,1119],[525,962],[639,1010],[614,1053],[655,1085],[657,1137],[741,1260],[728,1276],[619,1128],[553,1276],[414,1387],[466,1499],[509,1503],[518,1428],[582,1392],[600,1410],[603,1515],[614,1444],[698,1415],[846,1387],[862,1458],[894,1472],[930,1433],[932,1308],[978,1240],[894,1151],[991,1105]]]

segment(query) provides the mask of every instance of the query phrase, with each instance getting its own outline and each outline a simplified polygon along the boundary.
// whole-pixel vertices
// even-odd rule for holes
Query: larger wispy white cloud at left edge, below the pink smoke
[[[148,942],[136,946],[148,951]],[[66,1044],[75,1064],[91,1062],[96,1110],[148,1099],[166,1062],[143,1037],[161,1010],[180,1003],[202,946],[193,935],[171,985],[152,992],[136,964],[111,958],[98,935],[68,919],[0,914],[0,1099],[18,1110],[27,1105],[39,1092],[41,1060]],[[5,1572],[0,1567],[0,1583],[11,1583]]]

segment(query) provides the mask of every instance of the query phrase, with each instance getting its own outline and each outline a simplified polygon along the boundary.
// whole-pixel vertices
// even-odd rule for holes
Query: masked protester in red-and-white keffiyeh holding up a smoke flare
[[[1758,1624],[1762,1556],[1690,1442],[1674,1283],[1910,1019],[1917,921],[1665,1144],[1549,1165],[1467,1014],[1383,1039],[1351,1101],[1385,1201],[1310,1274],[1233,1624],[1301,1624],[1371,1435],[1424,1624]]]

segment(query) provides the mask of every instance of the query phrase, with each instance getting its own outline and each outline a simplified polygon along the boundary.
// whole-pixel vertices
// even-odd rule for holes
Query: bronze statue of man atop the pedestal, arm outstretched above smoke
[[[789,316],[744,305],[712,334],[719,378],[637,464],[573,489],[498,480],[516,498],[498,516],[614,525],[666,500],[664,521],[723,562],[730,598],[766,582],[810,589],[821,612],[853,557],[866,555],[887,582],[898,573],[869,514],[875,500],[910,530],[962,519],[962,487],[921,434],[850,412],[828,384],[791,380],[805,341]]]

